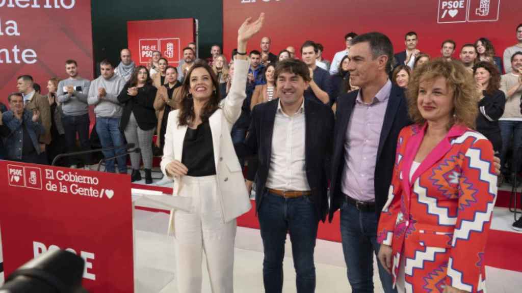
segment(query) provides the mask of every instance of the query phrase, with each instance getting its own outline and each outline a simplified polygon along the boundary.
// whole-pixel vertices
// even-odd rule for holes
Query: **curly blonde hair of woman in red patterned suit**
[[[439,77],[445,78],[446,86],[453,89],[453,115],[447,128],[458,124],[474,129],[478,114],[479,92],[473,75],[459,61],[446,61],[442,58],[418,66],[411,74],[407,98],[408,113],[413,123],[423,125],[426,121],[417,106],[420,83],[434,81]]]

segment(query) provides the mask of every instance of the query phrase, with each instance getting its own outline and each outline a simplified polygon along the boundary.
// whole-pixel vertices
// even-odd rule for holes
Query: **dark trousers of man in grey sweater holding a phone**
[[[76,151],[76,134],[80,139],[81,151],[88,151],[91,149],[89,141],[89,114],[80,116],[62,116],[62,124],[65,130],[65,141],[67,144],[67,152]],[[91,155],[85,154],[80,156],[74,156],[69,159],[70,165],[89,165],[91,164]]]

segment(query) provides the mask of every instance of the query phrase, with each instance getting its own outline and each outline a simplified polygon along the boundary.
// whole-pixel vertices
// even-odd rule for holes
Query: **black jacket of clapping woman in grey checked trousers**
[[[118,102],[123,104],[123,114],[120,121],[120,130],[125,131],[131,113],[142,130],[150,130],[155,128],[158,124],[156,118],[156,111],[154,109],[154,100],[156,99],[156,92],[158,89],[152,84],[145,84],[145,86],[138,88],[138,94],[135,96],[128,95],[128,83],[118,95]]]

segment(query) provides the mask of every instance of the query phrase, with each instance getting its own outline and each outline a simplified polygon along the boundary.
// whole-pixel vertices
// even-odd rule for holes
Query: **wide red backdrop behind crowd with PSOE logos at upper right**
[[[323,56],[331,60],[345,48],[346,33],[379,31],[388,35],[399,52],[405,50],[404,35],[413,30],[419,35],[419,50],[432,56],[440,56],[445,39],[455,40],[459,51],[462,44],[481,36],[489,38],[496,55],[502,56],[507,46],[516,43],[522,2],[489,3],[487,11],[480,9],[480,0],[223,0],[224,52],[230,57],[236,47],[242,21],[264,12],[265,26],[248,45],[249,51],[259,50],[262,36],[271,38],[270,51],[276,55],[287,46],[294,46],[298,53],[304,41],[313,40],[323,44]]]

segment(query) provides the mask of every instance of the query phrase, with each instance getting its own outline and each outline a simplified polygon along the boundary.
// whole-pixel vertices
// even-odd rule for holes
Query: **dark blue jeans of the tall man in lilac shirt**
[[[361,212],[347,203],[341,206],[342,251],[348,268],[348,281],[353,293],[373,292],[373,254],[377,255],[381,245],[377,243],[378,219],[375,212]],[[379,277],[384,292],[393,289],[392,275],[378,262]]]

